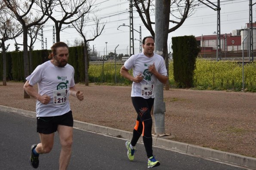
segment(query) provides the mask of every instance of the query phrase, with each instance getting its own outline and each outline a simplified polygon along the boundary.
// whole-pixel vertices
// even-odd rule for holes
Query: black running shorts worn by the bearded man
[[[73,127],[72,111],[59,116],[37,117],[37,132],[40,134],[52,134],[57,131],[58,125]]]

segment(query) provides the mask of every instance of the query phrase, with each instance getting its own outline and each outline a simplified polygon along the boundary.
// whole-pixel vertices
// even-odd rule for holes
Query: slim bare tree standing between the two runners
[[[105,23],[100,24],[100,20],[97,20],[97,17],[93,19],[94,23],[93,26],[93,31],[92,36],[87,39],[87,33],[84,32],[84,28],[86,27],[86,18],[85,14],[82,15],[82,17],[72,23],[73,27],[77,30],[77,32],[80,34],[80,36],[83,38],[84,42],[84,61],[85,61],[85,85],[89,85],[89,75],[88,75],[88,68],[89,68],[89,55],[88,55],[88,48],[87,48],[87,43],[89,41],[93,41],[96,39],[98,36],[101,35],[102,31],[104,30]]]

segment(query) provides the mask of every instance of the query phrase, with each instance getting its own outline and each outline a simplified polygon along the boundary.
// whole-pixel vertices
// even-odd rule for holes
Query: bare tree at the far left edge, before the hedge
[[[7,9],[6,9],[7,10]],[[22,28],[4,10],[0,12],[0,49],[3,55],[3,85],[6,85],[6,51],[10,44],[5,46],[5,41],[14,39],[22,33]]]

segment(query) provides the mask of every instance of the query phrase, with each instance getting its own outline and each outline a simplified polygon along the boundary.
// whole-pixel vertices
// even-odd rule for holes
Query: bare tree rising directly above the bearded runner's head
[[[50,8],[47,11],[47,15],[55,23],[56,29],[56,42],[60,41],[60,32],[65,29],[62,29],[63,24],[72,24],[74,21],[77,21],[84,14],[88,13],[91,9],[91,0],[57,0],[56,6]],[[54,12],[55,15],[61,15],[62,18],[51,15],[50,13]]]

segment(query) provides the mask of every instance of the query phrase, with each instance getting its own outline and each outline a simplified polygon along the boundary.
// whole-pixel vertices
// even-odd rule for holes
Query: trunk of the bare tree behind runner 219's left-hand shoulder
[[[26,78],[29,76],[29,65],[28,65],[28,28],[26,26],[23,27],[23,60],[24,60],[24,82],[26,82]],[[29,99],[30,96],[24,90],[24,98]]]

